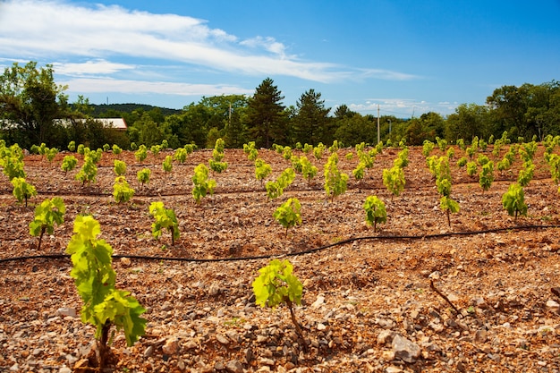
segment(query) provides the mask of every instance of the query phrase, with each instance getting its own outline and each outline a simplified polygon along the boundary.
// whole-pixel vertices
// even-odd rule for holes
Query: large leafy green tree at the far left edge
[[[0,76],[0,119],[8,137],[23,147],[45,142],[48,147],[60,145],[60,126],[68,108],[65,86],[56,85],[52,64],[38,68],[36,62],[25,66],[14,63]],[[6,124],[7,123],[7,124]],[[66,139],[64,139],[65,141]]]

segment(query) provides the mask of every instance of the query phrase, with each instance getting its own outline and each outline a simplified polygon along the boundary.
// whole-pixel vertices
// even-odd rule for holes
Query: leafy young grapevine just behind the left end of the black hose
[[[61,225],[64,223],[65,213],[66,206],[64,205],[64,200],[60,197],[45,199],[35,208],[35,218],[30,223],[30,234],[38,237],[37,250],[41,249],[43,234],[53,234],[55,232],[55,224]]]

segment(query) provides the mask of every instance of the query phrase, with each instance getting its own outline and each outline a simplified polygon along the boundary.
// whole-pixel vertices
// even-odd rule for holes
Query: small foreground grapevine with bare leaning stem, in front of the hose
[[[259,276],[252,283],[255,293],[255,303],[260,307],[276,308],[285,303],[290,309],[295,330],[303,338],[301,326],[295,318],[293,305],[301,304],[303,285],[297,276],[293,275],[293,265],[288,259],[280,261],[273,259],[266,267],[259,269]]]

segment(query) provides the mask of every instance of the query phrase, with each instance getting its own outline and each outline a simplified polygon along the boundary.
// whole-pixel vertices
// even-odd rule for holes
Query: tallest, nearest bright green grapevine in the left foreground
[[[146,309],[130,295],[115,288],[116,274],[112,267],[113,248],[98,240],[101,229],[91,216],[76,216],[72,239],[66,252],[71,255],[76,288],[83,301],[81,321],[96,327],[96,338],[108,340],[111,325],[123,330],[126,343],[132,346],[144,334],[146,319],[140,315]],[[105,346],[100,346],[100,353]]]

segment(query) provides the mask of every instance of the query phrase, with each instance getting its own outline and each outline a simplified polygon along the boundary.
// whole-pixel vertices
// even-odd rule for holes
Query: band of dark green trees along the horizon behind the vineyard
[[[92,106],[85,97],[69,104],[64,89],[55,84],[51,65],[38,69],[31,62],[6,68],[0,76],[0,136],[8,144],[18,142],[25,148],[43,142],[65,148],[71,140],[90,148],[106,143],[121,148],[130,148],[132,143],[149,147],[163,140],[171,148],[191,143],[211,148],[218,138],[225,140],[227,148],[242,148],[249,141],[270,148],[273,144],[296,147],[298,143],[331,144],[334,140],[353,146],[378,140],[376,116],[356,113],[345,105],[326,107],[314,89],[301,94],[295,105],[284,106],[282,92],[270,78],[252,96],[203,97],[180,111],[134,104]],[[128,129],[103,128],[96,117],[123,117]],[[66,120],[65,125],[54,122],[60,118]],[[495,89],[484,106],[462,104],[446,117],[433,112],[412,119],[384,115],[379,124],[380,140],[405,140],[409,145],[436,138],[449,143],[475,136],[499,138],[504,131],[514,140],[543,139],[560,134],[560,83],[504,86]]]

